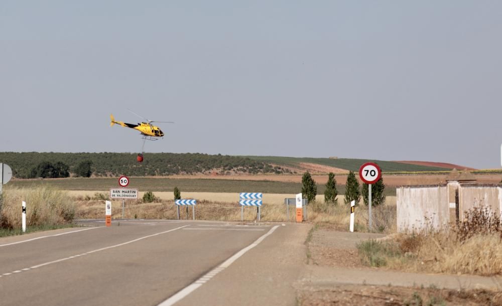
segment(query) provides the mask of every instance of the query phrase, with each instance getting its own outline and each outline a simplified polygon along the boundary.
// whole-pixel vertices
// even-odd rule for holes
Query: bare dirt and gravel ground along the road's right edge
[[[383,234],[321,228],[296,283],[300,305],[502,305],[502,278],[407,273],[361,264],[356,245]]]

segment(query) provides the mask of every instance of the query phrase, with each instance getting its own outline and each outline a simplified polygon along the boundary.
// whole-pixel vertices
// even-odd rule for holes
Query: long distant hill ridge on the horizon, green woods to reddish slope
[[[16,178],[33,178],[43,162],[64,163],[74,175],[83,161],[92,162],[92,176],[170,176],[170,175],[239,175],[239,174],[345,174],[357,172],[365,162],[378,164],[383,172],[436,172],[458,165],[429,162],[389,162],[338,158],[292,158],[273,156],[227,156],[200,153],[146,153],[143,163],[130,153],[58,153],[58,152],[0,152],[0,162],[9,164]],[[472,168],[467,168],[472,169]]]

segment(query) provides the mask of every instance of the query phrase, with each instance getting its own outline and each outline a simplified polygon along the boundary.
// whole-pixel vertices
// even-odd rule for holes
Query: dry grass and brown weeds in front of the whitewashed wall
[[[415,272],[502,275],[502,226],[486,209],[466,212],[467,220],[450,228],[400,234],[359,245],[369,265]]]

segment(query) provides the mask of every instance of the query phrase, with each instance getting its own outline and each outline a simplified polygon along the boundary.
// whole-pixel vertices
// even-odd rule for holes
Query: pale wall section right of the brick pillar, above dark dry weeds
[[[464,220],[465,211],[473,207],[489,207],[500,216],[502,211],[502,188],[460,184],[458,188],[459,219]]]

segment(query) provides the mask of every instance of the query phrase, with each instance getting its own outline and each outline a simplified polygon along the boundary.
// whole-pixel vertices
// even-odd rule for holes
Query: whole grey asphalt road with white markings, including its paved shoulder
[[[83,223],[0,238],[0,304],[295,304],[308,225]]]

